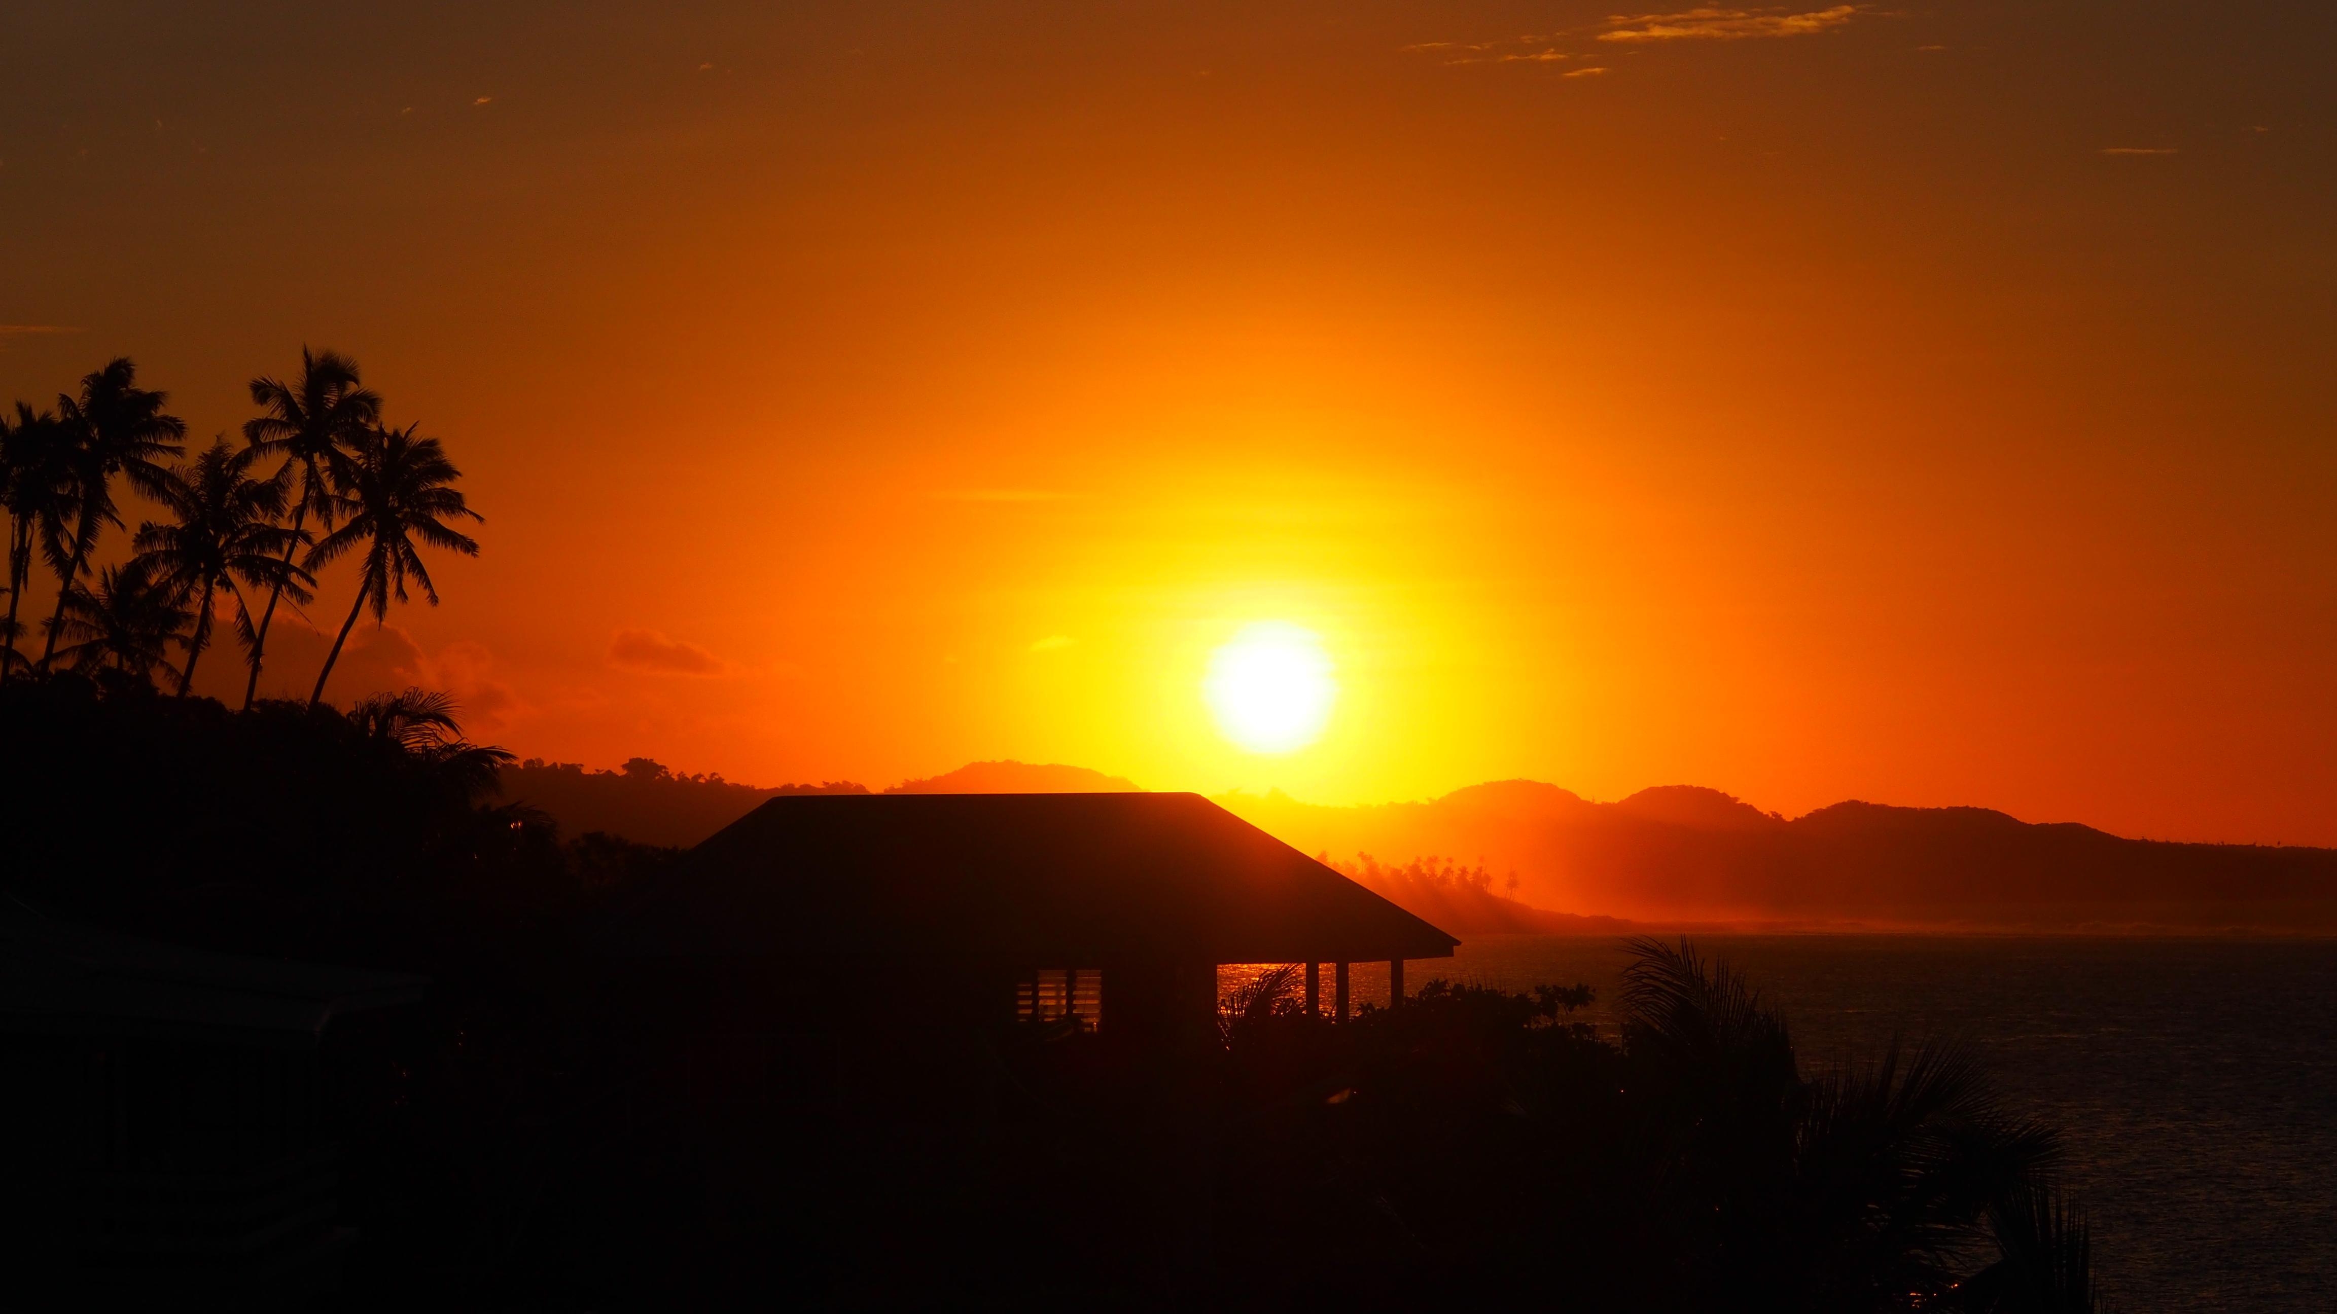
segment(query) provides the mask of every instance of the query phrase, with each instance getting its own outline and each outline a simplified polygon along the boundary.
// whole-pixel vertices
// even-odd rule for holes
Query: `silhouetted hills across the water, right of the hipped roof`
[[[1718,790],[1594,804],[1498,781],[1433,802],[1220,800],[1309,853],[1454,853],[1517,898],[1615,917],[2036,928],[2337,928],[2337,851],[2159,844],[1977,807],[1842,802],[1785,821]]]

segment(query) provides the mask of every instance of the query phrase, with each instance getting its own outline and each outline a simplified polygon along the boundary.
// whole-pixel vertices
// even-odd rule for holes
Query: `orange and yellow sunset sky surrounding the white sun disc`
[[[463,468],[484,552],[334,697],[755,783],[2337,844],[2325,5],[12,5],[0,49],[0,397],[131,355],[208,440],[306,344]],[[1302,748],[1204,699],[1253,624],[1337,680]]]

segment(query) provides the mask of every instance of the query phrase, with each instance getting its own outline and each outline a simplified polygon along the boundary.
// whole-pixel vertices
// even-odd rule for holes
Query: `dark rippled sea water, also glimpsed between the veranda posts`
[[[1804,1071],[1961,1036],[2066,1134],[2120,1309],[2337,1309],[2337,940],[1699,935],[1785,1008]],[[1587,982],[1613,1024],[1620,940],[1489,935],[1433,977]],[[1325,970],[1325,996],[1330,994]],[[1386,966],[1355,966],[1384,1003]],[[1327,1003],[1327,1001],[1325,1001]]]

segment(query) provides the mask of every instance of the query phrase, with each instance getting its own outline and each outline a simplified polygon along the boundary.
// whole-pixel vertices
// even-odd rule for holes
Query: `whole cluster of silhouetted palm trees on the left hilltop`
[[[245,421],[245,447],[220,440],[192,463],[173,463],[185,456],[187,426],[168,414],[166,393],[138,386],[129,358],[86,374],[54,412],[16,402],[14,416],[0,416],[0,510],[9,521],[0,685],[56,666],[70,636],[68,662],[77,669],[89,669],[89,652],[105,652],[96,662],[138,666],[143,678],[168,669],[178,692],[189,694],[224,592],[245,650],[250,711],[278,606],[287,596],[294,606],[313,601],[313,568],[353,554],[358,599],[308,694],[315,706],[367,603],[383,620],[414,582],[437,606],[421,549],[477,554],[477,540],[449,521],[481,519],[453,489],[460,472],[442,444],[416,437],[414,426],[383,428],[381,395],[360,386],[358,362],[334,351],[301,348],[294,379],[257,376],[250,395],[262,414]],[[276,465],[262,472],[269,461]],[[136,570],[119,568],[91,589],[84,580],[100,563],[105,528],[124,526],[117,479],[159,503],[164,517],[145,519],[131,538]],[[323,542],[311,524],[327,531]],[[26,662],[21,613],[35,556],[56,575],[56,601],[40,659]],[[189,631],[166,634],[164,650],[178,643],[185,664],[166,662],[164,650],[140,664],[131,634],[171,615],[182,615]]]

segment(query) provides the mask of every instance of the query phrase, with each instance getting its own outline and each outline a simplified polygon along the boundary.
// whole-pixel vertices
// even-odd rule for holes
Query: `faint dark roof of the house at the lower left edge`
[[[421,998],[423,977],[245,959],[54,921],[0,895],[0,1029],[318,1036]]]

